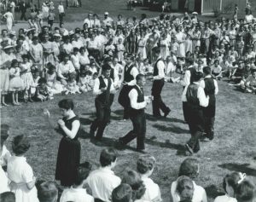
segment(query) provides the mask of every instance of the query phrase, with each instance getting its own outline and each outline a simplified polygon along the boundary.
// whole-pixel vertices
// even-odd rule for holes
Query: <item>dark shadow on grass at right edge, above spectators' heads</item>
[[[228,169],[228,170],[237,171],[237,172],[244,172],[248,176],[256,176],[256,170],[248,167],[248,165],[250,165],[250,164],[228,163],[228,164],[218,164],[218,167]]]

